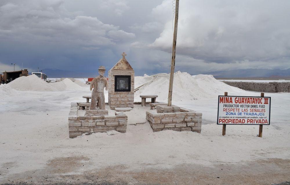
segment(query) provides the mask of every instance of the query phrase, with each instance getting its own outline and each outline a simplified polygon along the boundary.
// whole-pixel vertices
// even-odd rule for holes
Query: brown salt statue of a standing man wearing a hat
[[[104,87],[108,90],[108,80],[104,77],[106,69],[104,66],[99,67],[99,76],[95,77],[90,85],[92,92],[92,101],[90,109],[96,109],[97,101],[99,101],[100,109],[105,109]]]

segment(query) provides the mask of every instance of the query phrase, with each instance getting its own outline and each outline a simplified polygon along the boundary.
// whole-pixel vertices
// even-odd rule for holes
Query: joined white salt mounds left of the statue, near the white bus
[[[76,80],[75,82],[77,81],[78,80]],[[47,83],[44,80],[37,77],[36,75],[29,75],[27,77],[23,76],[15,79],[9,84],[7,84],[7,86],[22,91],[62,91],[62,90],[82,89],[84,86],[80,86],[78,85],[78,83],[79,82],[74,83],[68,78],[60,82]]]

